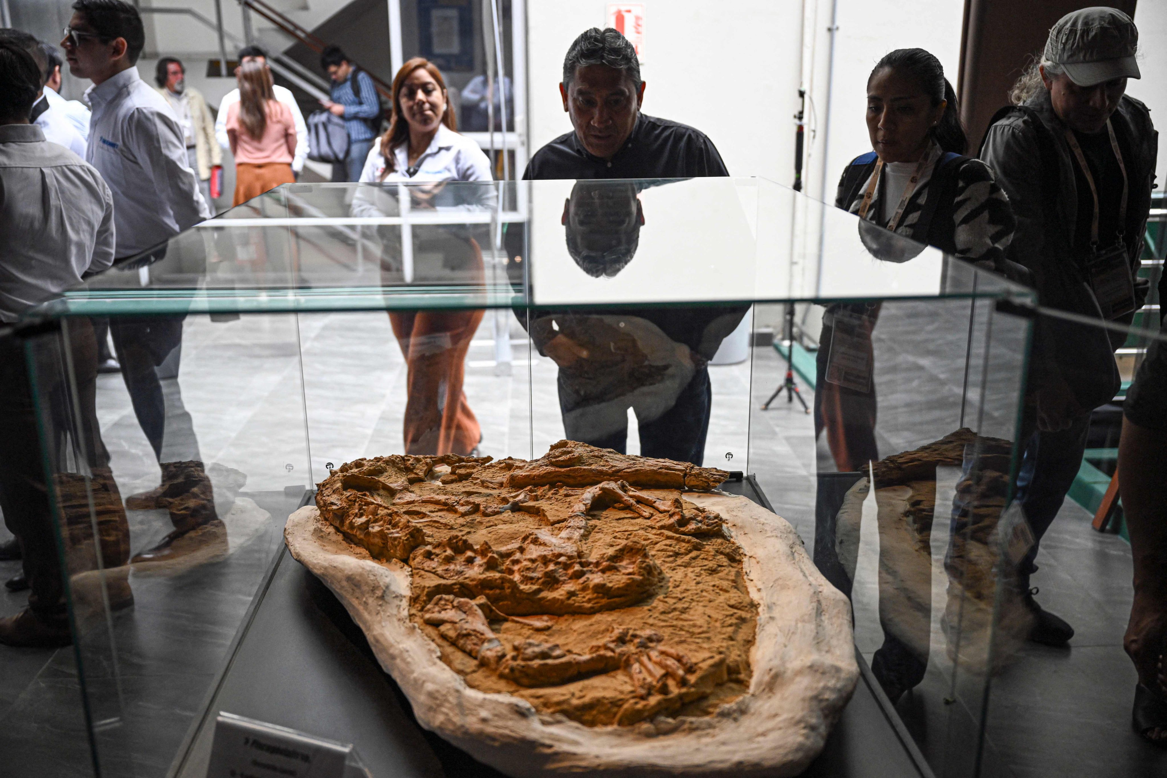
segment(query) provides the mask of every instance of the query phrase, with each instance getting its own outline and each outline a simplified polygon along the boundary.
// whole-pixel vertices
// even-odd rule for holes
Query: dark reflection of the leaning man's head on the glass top
[[[612,278],[633,261],[644,211],[627,181],[579,181],[564,203],[567,253],[593,278]]]

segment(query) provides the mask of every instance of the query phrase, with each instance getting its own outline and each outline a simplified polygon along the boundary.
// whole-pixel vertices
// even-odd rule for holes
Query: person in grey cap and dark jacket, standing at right
[[[1125,94],[1139,78],[1139,33],[1113,8],[1067,14],[1041,61],[1014,86],[1016,104],[993,119],[980,157],[997,173],[1016,216],[1007,257],[1033,273],[1039,302],[1128,324],[1147,288],[1137,282],[1151,210],[1158,133],[1142,103]],[[1034,329],[1019,443],[1016,499],[1034,534],[1018,570],[1034,612],[1029,639],[1065,645],[1074,629],[1033,600],[1037,542],[1074,483],[1090,412],[1120,387],[1121,335],[1040,316]]]

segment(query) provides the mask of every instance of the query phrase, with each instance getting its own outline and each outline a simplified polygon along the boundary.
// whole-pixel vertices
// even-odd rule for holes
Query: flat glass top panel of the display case
[[[498,210],[513,188],[527,189],[529,215]],[[478,244],[482,273],[459,259],[461,233]],[[441,234],[455,238],[443,244]],[[90,279],[44,313],[953,295],[1028,299],[757,178],[286,184]]]

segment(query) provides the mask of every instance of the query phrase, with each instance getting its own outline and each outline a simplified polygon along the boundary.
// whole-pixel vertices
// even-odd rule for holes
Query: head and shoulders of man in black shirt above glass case
[[[574,129],[531,157],[524,178],[692,178],[727,176],[705,133],[641,113],[636,49],[614,29],[572,43],[559,85]]]

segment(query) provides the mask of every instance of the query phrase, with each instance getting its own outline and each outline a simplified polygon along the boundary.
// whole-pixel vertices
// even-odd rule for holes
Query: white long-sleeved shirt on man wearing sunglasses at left
[[[210,218],[174,111],[138,69],[123,70],[86,94],[93,119],[85,160],[117,198],[117,255],[137,254]]]

